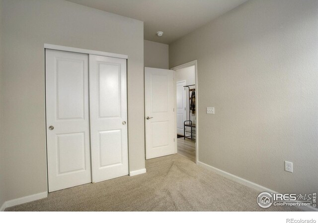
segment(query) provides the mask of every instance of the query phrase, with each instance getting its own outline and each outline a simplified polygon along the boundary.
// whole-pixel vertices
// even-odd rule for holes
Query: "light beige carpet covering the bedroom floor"
[[[259,192],[171,155],[146,161],[147,173],[52,192],[5,211],[298,211],[260,208]]]

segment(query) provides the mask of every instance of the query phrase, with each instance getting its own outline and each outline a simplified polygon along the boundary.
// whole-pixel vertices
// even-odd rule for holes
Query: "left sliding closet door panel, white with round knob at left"
[[[45,51],[49,192],[91,182],[88,55]]]

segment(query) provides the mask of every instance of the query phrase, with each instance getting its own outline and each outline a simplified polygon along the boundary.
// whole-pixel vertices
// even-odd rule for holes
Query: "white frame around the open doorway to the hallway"
[[[178,70],[181,68],[186,68],[186,67],[190,67],[190,66],[194,66],[194,80],[195,80],[195,91],[196,91],[196,98],[195,98],[195,131],[196,131],[196,139],[195,139],[195,163],[198,164],[198,160],[199,160],[199,125],[198,125],[198,120],[199,120],[199,115],[198,115],[198,70],[197,70],[197,60],[193,60],[184,64],[180,64],[178,66],[174,66],[172,68],[170,68],[170,70]],[[175,94],[176,95],[176,94]],[[176,109],[176,97],[175,97],[175,104],[174,107]],[[175,112],[175,119],[176,119],[176,112]]]

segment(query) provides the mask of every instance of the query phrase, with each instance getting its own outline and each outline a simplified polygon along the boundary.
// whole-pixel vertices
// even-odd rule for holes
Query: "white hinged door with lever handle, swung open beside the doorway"
[[[146,159],[175,153],[174,71],[145,67]]]

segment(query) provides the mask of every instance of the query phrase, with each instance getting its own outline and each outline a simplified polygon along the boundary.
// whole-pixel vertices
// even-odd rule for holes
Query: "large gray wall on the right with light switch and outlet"
[[[278,192],[318,191],[318,1],[247,1],[169,45],[170,67],[195,59],[199,161]]]

